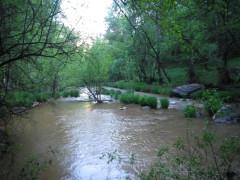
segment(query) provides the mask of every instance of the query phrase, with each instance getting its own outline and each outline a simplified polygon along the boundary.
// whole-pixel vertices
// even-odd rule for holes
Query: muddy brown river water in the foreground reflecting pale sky
[[[58,100],[16,118],[16,169],[34,156],[52,161],[41,174],[44,180],[138,179],[160,146],[185,136],[189,126],[196,133],[205,127],[203,119],[189,123],[179,110],[144,110],[138,105],[120,110],[121,106]],[[222,137],[240,135],[236,124],[211,128]]]

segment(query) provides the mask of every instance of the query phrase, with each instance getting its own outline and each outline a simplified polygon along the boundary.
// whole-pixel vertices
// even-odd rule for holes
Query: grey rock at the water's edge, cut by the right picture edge
[[[240,112],[236,106],[225,105],[213,116],[216,123],[237,123],[240,122]]]

